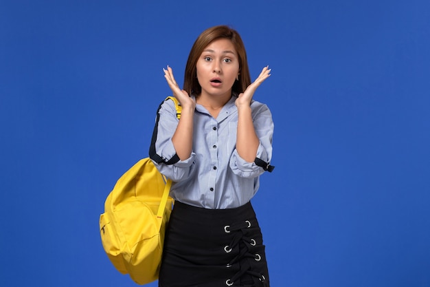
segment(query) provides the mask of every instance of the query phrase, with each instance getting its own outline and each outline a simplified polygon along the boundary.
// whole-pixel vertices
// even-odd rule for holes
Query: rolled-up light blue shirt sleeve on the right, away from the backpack
[[[251,104],[253,125],[256,130],[260,145],[258,145],[256,158],[269,163],[272,158],[273,120],[271,111],[267,105],[253,102]],[[264,169],[255,162],[247,162],[241,158],[234,149],[229,166],[231,170],[242,178],[255,178],[264,173]]]

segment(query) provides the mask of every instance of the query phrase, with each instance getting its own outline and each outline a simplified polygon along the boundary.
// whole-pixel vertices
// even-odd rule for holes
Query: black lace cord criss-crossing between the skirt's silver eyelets
[[[236,262],[239,262],[244,257],[249,257],[249,258],[254,259],[256,261],[260,261],[261,256],[259,254],[252,254],[250,252],[251,248],[253,246],[256,246],[256,241],[251,239],[250,237],[247,237],[244,233],[244,231],[250,227],[251,227],[251,222],[249,222],[249,221],[238,222],[236,224],[231,224],[231,226],[225,226],[224,229],[225,229],[226,233],[235,232],[235,235],[234,235],[233,239],[231,240],[230,244],[225,246],[224,251],[226,253],[231,252],[231,250],[233,250],[233,248],[235,248],[236,246],[240,245],[241,242],[243,243],[242,246],[244,246],[244,248],[239,247],[240,248],[239,254],[230,260],[230,262],[227,264],[227,267],[235,264]],[[262,281],[264,286],[266,286],[267,282],[266,282],[266,278],[264,277],[264,275],[262,275],[260,273],[256,273],[250,269],[251,269],[251,265],[249,264],[249,261],[245,261],[242,264],[242,266],[240,266],[240,270],[233,277],[231,277],[231,279],[227,279],[227,281],[225,282],[226,285],[231,286],[234,284],[234,282],[237,279],[239,279],[240,277],[242,277],[245,274],[248,274],[248,275],[251,275],[253,277],[257,277],[260,281]]]

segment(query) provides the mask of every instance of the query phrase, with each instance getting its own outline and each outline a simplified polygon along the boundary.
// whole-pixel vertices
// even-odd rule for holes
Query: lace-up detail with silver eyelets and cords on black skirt
[[[236,251],[234,252],[236,255],[231,257],[226,267],[238,266],[237,273],[225,281],[226,286],[269,286],[264,275],[253,271],[254,267],[262,259],[262,256],[258,253],[258,249],[260,249],[258,247],[261,247],[262,242],[258,242],[249,236],[249,234],[252,234],[252,225],[250,220],[245,220],[224,226],[225,233],[233,235],[231,242],[224,247],[224,251],[225,253]],[[239,279],[242,279],[244,275],[249,275],[248,277],[253,279],[253,284],[251,282],[249,284],[240,283],[242,280]]]

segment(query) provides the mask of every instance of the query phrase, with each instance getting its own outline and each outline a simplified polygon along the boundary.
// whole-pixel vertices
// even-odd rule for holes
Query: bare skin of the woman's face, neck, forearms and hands
[[[168,66],[163,71],[173,96],[182,106],[181,118],[172,142],[179,158],[186,160],[190,158],[192,152],[196,102],[203,105],[214,118],[218,116],[220,109],[231,98],[231,87],[240,71],[238,56],[229,39],[218,39],[205,47],[196,64],[197,78],[201,85],[201,94],[196,95],[196,102],[179,87],[174,80],[171,67]],[[258,145],[260,145],[251,117],[251,100],[256,89],[269,78],[270,72],[269,66],[264,67],[256,81],[251,83],[245,92],[240,93],[235,102],[238,109],[236,150],[247,162],[253,162],[256,159]],[[220,83],[214,83],[214,79]]]

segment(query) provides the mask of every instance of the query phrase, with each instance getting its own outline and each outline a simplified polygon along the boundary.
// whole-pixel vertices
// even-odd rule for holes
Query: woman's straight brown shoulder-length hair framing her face
[[[247,52],[242,39],[236,30],[229,28],[226,25],[219,25],[203,31],[192,45],[190,55],[188,56],[187,65],[185,66],[185,75],[183,81],[183,89],[189,95],[199,96],[201,86],[197,80],[196,65],[199,57],[205,47],[218,39],[229,39],[233,43],[239,58],[239,81],[235,81],[231,90],[240,94],[245,92],[245,89],[251,84],[251,76],[249,76],[249,67],[247,61]]]

